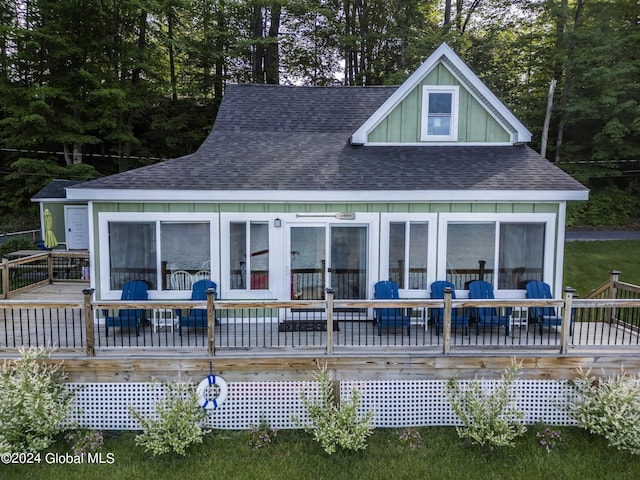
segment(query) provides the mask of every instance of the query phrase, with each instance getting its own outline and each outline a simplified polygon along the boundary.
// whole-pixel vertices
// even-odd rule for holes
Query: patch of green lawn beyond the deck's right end
[[[640,240],[567,242],[564,249],[563,286],[584,298],[609,279],[611,270],[620,280],[640,285]]]

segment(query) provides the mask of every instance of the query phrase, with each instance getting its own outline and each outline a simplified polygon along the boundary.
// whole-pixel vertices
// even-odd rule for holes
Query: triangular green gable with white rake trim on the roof
[[[455,91],[455,136],[425,138],[426,95]],[[459,92],[459,93],[458,93]],[[355,145],[516,144],[531,133],[443,43],[351,136]]]

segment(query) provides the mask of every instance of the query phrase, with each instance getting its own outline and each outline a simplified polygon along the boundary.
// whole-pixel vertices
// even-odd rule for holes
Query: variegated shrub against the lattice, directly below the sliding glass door
[[[367,448],[367,438],[373,432],[373,412],[368,411],[359,418],[360,392],[352,390],[348,399],[335,405],[333,395],[333,375],[327,370],[327,365],[320,367],[316,373],[319,383],[319,399],[309,399],[305,392],[301,392],[302,404],[306,408],[310,419],[310,426],[306,430],[313,434],[314,440],[322,445],[329,455],[337,448],[358,451]]]

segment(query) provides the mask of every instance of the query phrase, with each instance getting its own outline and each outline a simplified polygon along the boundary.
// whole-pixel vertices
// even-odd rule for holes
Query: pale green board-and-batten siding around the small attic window
[[[510,134],[442,64],[433,69],[371,132],[370,143],[421,142],[422,91],[425,85],[459,86],[458,141],[507,143]]]

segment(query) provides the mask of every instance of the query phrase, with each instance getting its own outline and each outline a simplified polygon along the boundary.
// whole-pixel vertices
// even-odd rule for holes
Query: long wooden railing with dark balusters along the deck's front
[[[619,282],[612,274],[606,291],[616,297],[578,299],[571,289],[554,300],[339,300],[332,291],[322,300],[221,301],[93,301],[85,291],[83,303],[0,301],[0,351],[53,346],[83,351],[89,356],[136,348],[140,352],[208,353],[210,355],[281,355],[310,352],[413,352],[453,354],[487,352],[514,355],[540,351],[568,354],[585,350],[640,351],[640,287]],[[473,321],[476,308],[491,307],[508,316],[507,325]],[[527,315],[532,308],[550,307],[561,325],[540,325]],[[382,328],[374,322],[377,308],[397,309],[410,316],[410,325]],[[104,310],[143,309],[135,328],[105,328]],[[176,312],[200,309],[197,328],[181,327]],[[443,309],[442,325],[434,312]],[[471,319],[468,330],[451,324],[453,309]],[[139,333],[139,334],[138,334]],[[124,349],[124,350],[123,350]]]

